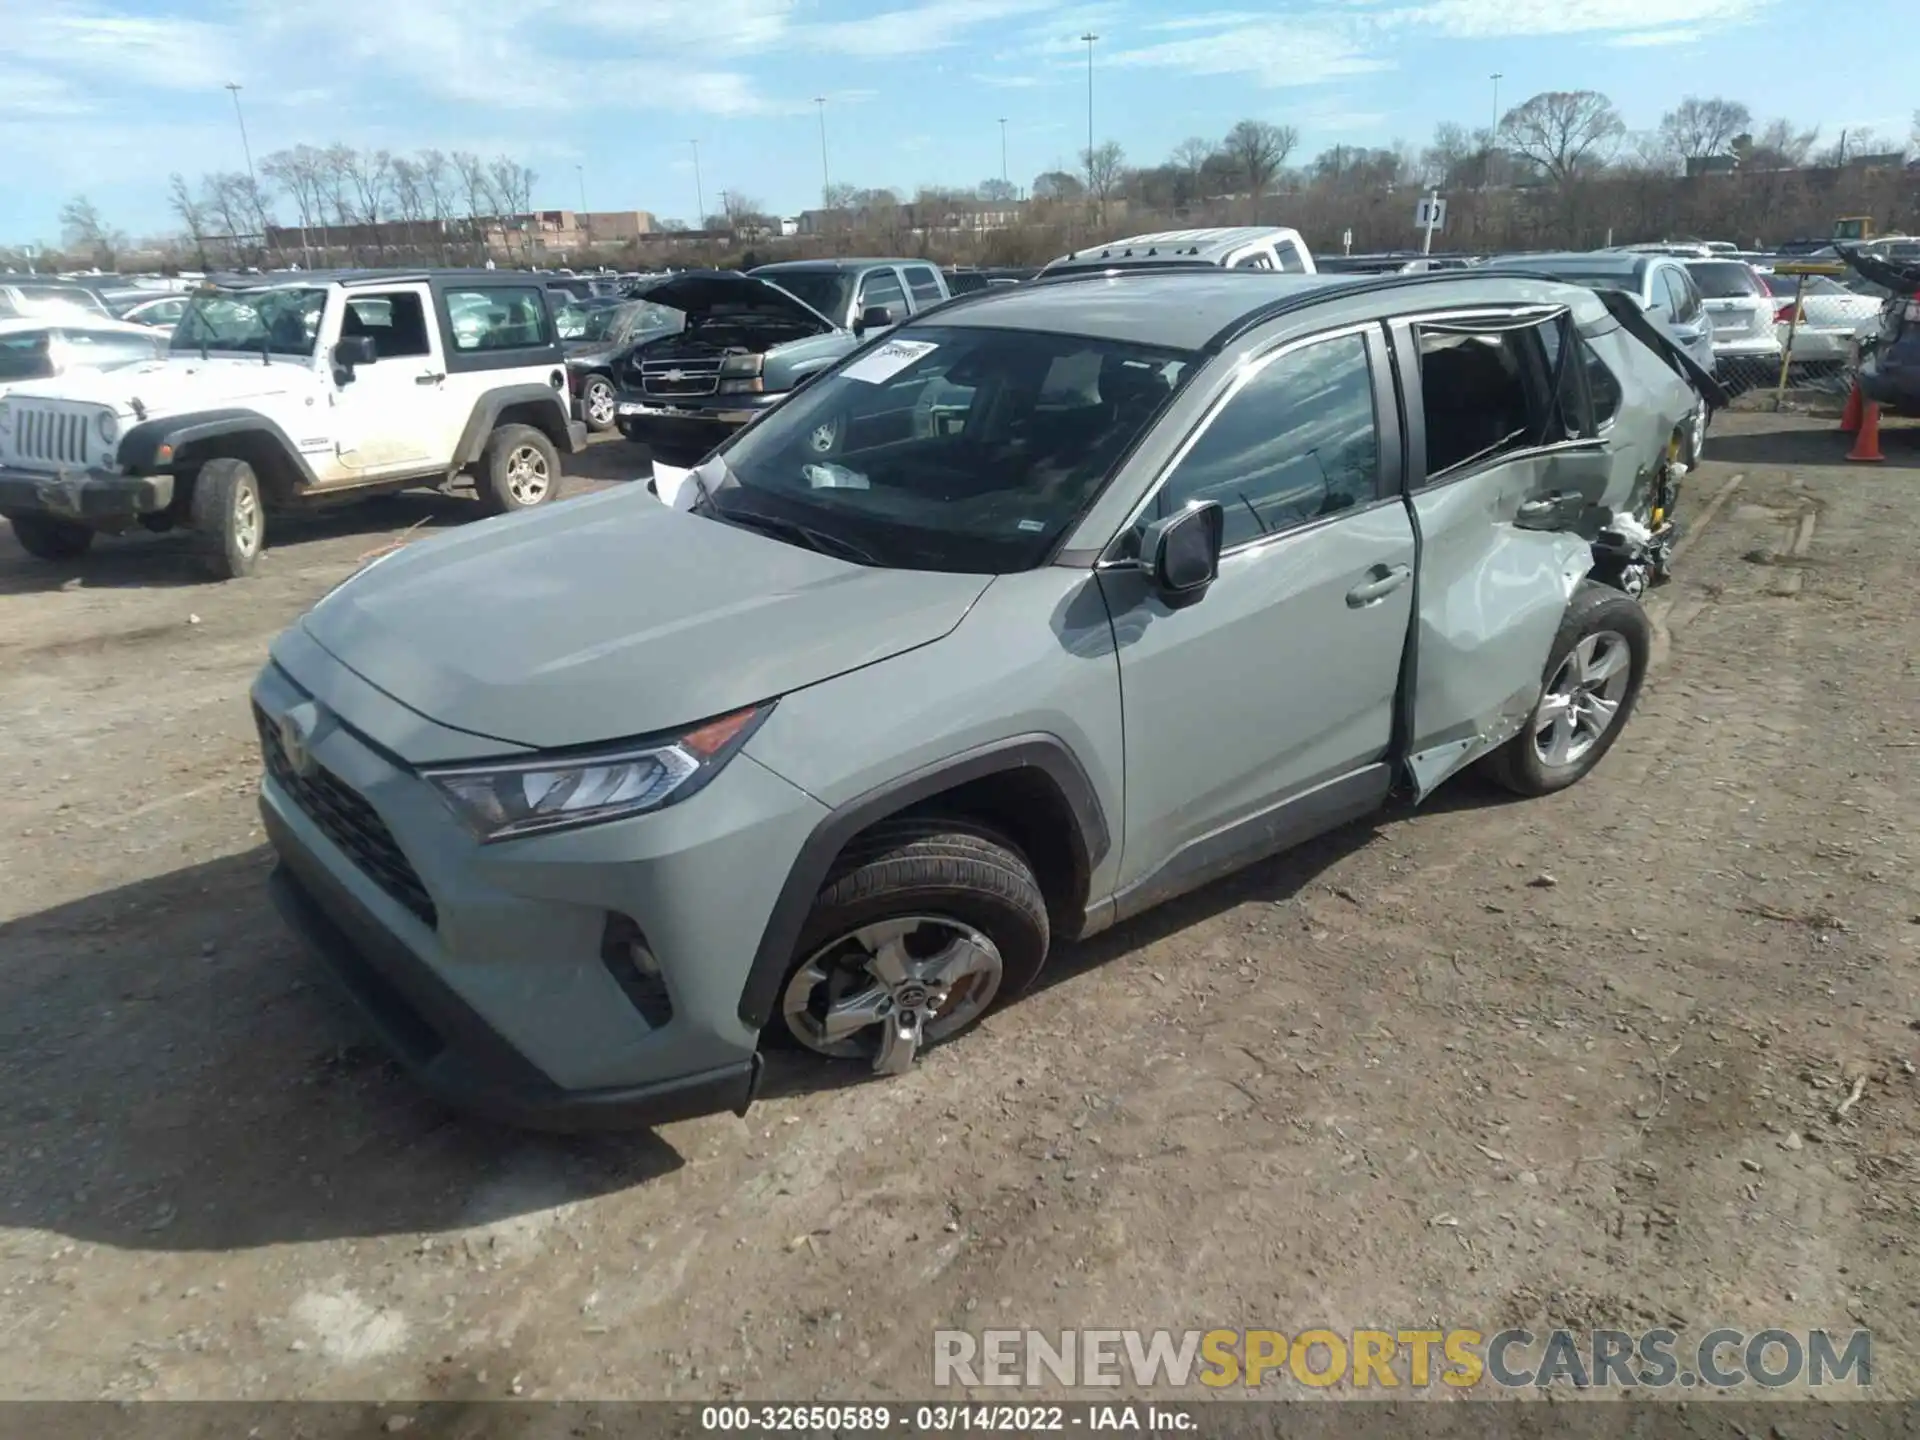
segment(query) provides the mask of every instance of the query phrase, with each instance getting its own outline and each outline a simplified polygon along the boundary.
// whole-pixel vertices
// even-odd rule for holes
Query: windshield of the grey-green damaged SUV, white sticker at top
[[[841,559],[1029,570],[1192,365],[1117,340],[916,326],[797,392],[695,476],[720,518]]]

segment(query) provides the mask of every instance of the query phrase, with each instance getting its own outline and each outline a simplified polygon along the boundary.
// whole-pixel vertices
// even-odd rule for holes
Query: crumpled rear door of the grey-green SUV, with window
[[[1396,321],[1419,584],[1415,797],[1519,732],[1615,490],[1565,305]]]

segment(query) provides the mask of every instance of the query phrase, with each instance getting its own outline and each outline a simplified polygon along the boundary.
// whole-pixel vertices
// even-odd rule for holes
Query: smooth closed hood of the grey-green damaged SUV
[[[927,645],[991,580],[849,564],[634,488],[405,545],[301,624],[430,720],[555,749],[697,724]]]

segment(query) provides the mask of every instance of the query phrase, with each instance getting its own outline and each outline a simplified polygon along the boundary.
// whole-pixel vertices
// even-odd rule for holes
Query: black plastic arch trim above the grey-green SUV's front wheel
[[[814,826],[812,835],[795,856],[787,883],[780,887],[780,899],[774,900],[774,912],[760,933],[760,948],[753,954],[747,985],[739,995],[739,1018],[753,1029],[760,1029],[774,1018],[780,983],[787,977],[787,966],[793,962],[793,947],[814,908],[814,897],[826,885],[828,872],[839,852],[847,849],[847,841],[874,822],[899,814],[941,791],[1027,766],[1043,770],[1066,799],[1075,822],[1071,839],[1091,876],[1112,847],[1106,810],[1100,808],[1100,797],[1094,793],[1079,756],[1058,735],[1012,735],[935,760],[847,801]]]

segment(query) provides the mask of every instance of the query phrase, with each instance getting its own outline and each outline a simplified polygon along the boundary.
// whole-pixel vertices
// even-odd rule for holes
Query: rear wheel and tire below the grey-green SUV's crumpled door
[[[1613,749],[1632,720],[1651,651],[1653,624],[1640,609],[1640,601],[1582,580],[1548,649],[1548,664],[1540,676],[1540,703],[1526,716],[1521,733],[1488,758],[1488,774],[1519,795],[1551,795],[1582,780]],[[1582,678],[1607,664],[1607,657],[1620,668],[1609,670],[1597,682]],[[1555,705],[1561,695],[1582,689],[1588,691],[1586,703]],[[1594,699],[1615,707],[1597,735],[1590,733],[1599,708]],[[1563,758],[1555,760],[1555,755]]]

